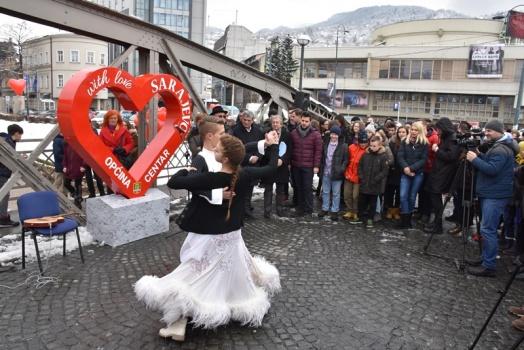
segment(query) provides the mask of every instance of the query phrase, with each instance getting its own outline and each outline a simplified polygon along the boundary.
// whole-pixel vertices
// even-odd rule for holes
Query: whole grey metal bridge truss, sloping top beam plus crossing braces
[[[162,72],[178,76],[188,88],[194,107],[198,111],[205,112],[206,110],[199,94],[190,82],[186,73],[187,68],[255,91],[261,95],[266,104],[276,104],[279,109],[287,110],[289,106],[293,105],[295,98],[299,98],[297,90],[263,72],[171,31],[91,2],[83,0],[0,0],[0,13],[122,45],[124,52],[111,63],[111,66],[120,66],[136,50],[139,56],[139,74]],[[153,114],[149,127],[150,137],[154,136],[157,130],[156,105],[157,98],[155,97],[149,105],[149,110]],[[332,119],[334,117],[334,113],[329,108],[319,103],[310,102],[309,105],[308,110],[317,118]],[[142,115],[138,125],[139,152],[146,147],[145,123],[146,118]],[[3,198],[21,178],[35,190],[56,191],[56,188],[40,174],[33,163],[58,132],[58,126],[56,126],[27,160],[17,155],[12,149],[6,148],[5,143],[0,142],[2,163],[13,170],[13,176],[0,189],[0,198]],[[7,160],[4,161],[4,159]],[[173,164],[173,162],[178,164]],[[175,167],[182,166],[185,165],[185,161],[173,159],[171,164]],[[37,181],[38,178],[41,183]],[[65,196],[60,193],[59,196],[61,204],[66,207],[67,211],[79,213]]]

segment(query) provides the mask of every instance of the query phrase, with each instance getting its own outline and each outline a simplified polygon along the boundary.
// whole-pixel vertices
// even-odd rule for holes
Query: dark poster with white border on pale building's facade
[[[471,45],[468,78],[502,78],[503,45]]]

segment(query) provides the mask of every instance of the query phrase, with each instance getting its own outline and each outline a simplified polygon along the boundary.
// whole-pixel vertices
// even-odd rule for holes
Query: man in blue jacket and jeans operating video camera
[[[494,277],[498,251],[497,228],[504,207],[513,193],[515,150],[513,140],[504,134],[504,125],[492,119],[484,126],[486,142],[479,146],[479,154],[468,151],[466,158],[477,172],[476,194],[482,212],[482,259],[470,262],[468,273]]]

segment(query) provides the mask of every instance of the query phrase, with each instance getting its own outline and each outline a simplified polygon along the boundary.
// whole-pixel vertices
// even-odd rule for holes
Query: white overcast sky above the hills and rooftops
[[[29,0],[17,0],[29,1]],[[519,1],[508,0],[426,0],[424,6],[433,10],[441,8],[455,10],[470,16],[493,14],[498,11],[508,11],[518,5]],[[356,10],[363,6],[373,5],[416,5],[421,1],[368,0],[353,2],[344,0],[264,0],[260,2],[248,0],[207,0],[208,25],[224,29],[235,23],[246,26],[252,31],[262,28],[287,26],[291,28],[325,21],[330,16]],[[521,7],[524,11],[524,7]],[[0,14],[0,24],[16,23],[18,18]],[[35,35],[56,33],[56,29],[34,25]]]

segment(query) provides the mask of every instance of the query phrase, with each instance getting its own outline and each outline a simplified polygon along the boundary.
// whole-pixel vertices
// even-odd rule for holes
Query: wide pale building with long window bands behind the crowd
[[[338,57],[335,47],[306,47],[303,87],[343,114],[511,125],[524,46],[501,40],[502,27],[479,19],[411,21],[378,28],[373,46],[339,47]]]

